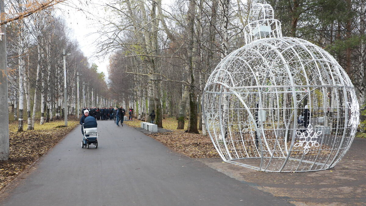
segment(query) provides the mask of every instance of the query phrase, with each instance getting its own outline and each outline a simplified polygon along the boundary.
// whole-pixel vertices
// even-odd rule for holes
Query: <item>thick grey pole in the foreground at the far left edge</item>
[[[0,0],[0,22],[5,19],[4,0]],[[6,70],[5,25],[0,26],[0,160],[9,159],[8,79]],[[16,111],[15,111],[16,112]]]

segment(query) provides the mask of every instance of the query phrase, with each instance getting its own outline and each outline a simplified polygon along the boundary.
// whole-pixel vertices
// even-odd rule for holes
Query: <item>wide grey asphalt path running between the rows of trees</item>
[[[291,205],[176,153],[112,120],[98,121],[98,148],[75,128],[41,158],[1,205]]]

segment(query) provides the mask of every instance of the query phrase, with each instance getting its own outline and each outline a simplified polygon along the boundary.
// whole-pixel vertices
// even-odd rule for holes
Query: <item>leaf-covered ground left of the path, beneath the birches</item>
[[[68,127],[64,124],[64,120],[55,120],[41,125],[36,120],[34,130],[26,130],[25,121],[24,132],[17,132],[17,122],[9,124],[10,154],[9,160],[0,161],[0,190],[72,131],[79,120],[71,118]]]

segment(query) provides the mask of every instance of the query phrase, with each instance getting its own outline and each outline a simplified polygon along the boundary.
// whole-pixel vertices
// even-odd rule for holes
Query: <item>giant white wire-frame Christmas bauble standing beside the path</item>
[[[273,20],[270,5],[253,8],[259,19],[249,20],[252,24]],[[268,172],[332,168],[350,148],[359,123],[350,78],[328,52],[308,41],[273,37],[272,31],[257,37],[253,28],[246,32],[249,43],[217,65],[202,98],[206,127],[221,158]]]

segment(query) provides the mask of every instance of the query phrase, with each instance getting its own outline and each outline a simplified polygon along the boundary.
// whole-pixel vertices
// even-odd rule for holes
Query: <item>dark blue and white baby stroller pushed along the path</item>
[[[97,148],[98,147],[97,120],[92,116],[88,116],[85,118],[82,127],[84,135],[81,147],[84,148],[84,146],[86,146],[86,148],[89,149],[89,145],[93,144],[95,145],[95,148]],[[94,134],[95,136],[90,136]]]

